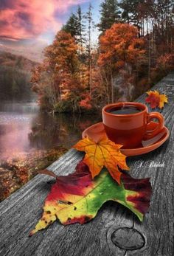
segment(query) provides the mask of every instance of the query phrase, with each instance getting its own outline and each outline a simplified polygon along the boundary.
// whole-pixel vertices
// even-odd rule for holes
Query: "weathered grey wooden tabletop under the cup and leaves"
[[[54,180],[49,176],[38,175],[0,204],[0,255],[174,255],[174,73],[164,77],[153,89],[169,97],[169,104],[164,106],[161,113],[170,130],[170,139],[156,151],[128,158],[131,176],[151,177],[153,196],[144,221],[140,223],[128,209],[108,201],[97,217],[87,224],[63,226],[55,221],[47,229],[29,238],[29,231],[41,218],[44,199]],[[137,101],[145,103],[145,94]],[[74,171],[82,157],[83,153],[70,150],[49,170],[66,175]],[[164,162],[164,167],[150,167],[152,162]],[[133,250],[116,246],[111,237],[116,229],[122,227],[140,232],[145,238],[145,245]],[[129,235],[125,241],[128,241]]]

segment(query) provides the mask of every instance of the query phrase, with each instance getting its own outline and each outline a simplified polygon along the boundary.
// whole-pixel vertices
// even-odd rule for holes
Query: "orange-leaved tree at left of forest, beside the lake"
[[[80,108],[80,100],[84,100],[80,95],[86,91],[86,83],[80,75],[82,67],[77,51],[74,38],[63,30],[46,47],[44,63],[32,72],[32,88],[40,95],[41,105],[49,103],[58,111]]]

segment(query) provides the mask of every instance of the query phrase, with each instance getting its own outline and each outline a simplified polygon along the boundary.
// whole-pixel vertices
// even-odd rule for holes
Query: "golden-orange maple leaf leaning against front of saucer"
[[[86,156],[83,162],[88,165],[91,172],[92,179],[97,176],[102,167],[105,166],[113,179],[120,184],[120,176],[122,173],[119,171],[120,167],[122,170],[129,170],[126,165],[126,156],[120,152],[122,145],[115,144],[107,136],[102,136],[97,142],[86,137],[81,139],[74,145],[77,151],[85,151]]]

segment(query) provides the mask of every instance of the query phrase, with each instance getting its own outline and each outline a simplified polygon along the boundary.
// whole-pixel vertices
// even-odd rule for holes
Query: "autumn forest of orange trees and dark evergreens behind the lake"
[[[98,24],[92,10],[78,6],[32,69],[32,90],[46,111],[91,112],[134,100],[174,69],[172,0],[105,0]]]

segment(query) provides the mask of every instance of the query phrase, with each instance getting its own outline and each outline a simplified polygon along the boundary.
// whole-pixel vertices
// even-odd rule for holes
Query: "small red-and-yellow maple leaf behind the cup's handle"
[[[165,94],[159,94],[159,91],[147,91],[148,97],[145,102],[150,103],[151,108],[163,108],[164,103],[168,103],[167,96]]]

